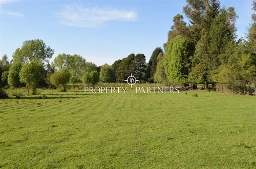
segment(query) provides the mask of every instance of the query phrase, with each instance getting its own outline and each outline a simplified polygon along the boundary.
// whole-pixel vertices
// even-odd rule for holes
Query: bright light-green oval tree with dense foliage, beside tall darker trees
[[[180,35],[170,40],[165,51],[165,73],[175,85],[187,82],[191,57],[189,43]]]

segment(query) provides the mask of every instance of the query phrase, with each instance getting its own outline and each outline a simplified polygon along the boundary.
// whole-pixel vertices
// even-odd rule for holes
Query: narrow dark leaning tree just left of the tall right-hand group
[[[147,81],[151,81],[151,82],[154,81],[154,75],[157,70],[157,57],[158,57],[159,53],[163,53],[162,48],[161,47],[155,48],[155,50],[153,51],[153,53],[151,55],[150,61],[146,65],[145,73],[146,73],[146,71],[149,71],[149,73],[148,73],[149,77],[145,78],[145,80],[147,80]]]

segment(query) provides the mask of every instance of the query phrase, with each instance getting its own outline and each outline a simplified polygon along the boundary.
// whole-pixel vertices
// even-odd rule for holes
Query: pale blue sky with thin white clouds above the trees
[[[252,1],[220,2],[236,9],[237,34],[244,37],[251,22]],[[185,5],[185,0],[0,0],[0,56],[7,54],[12,59],[25,40],[42,39],[55,50],[53,58],[59,53],[76,53],[100,66],[130,53],[143,53],[148,61],[152,51],[166,42],[173,17],[183,14]]]

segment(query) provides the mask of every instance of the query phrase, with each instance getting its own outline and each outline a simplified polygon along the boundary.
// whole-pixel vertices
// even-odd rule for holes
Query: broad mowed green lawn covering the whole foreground
[[[256,97],[44,93],[0,100],[0,168],[256,168]]]

